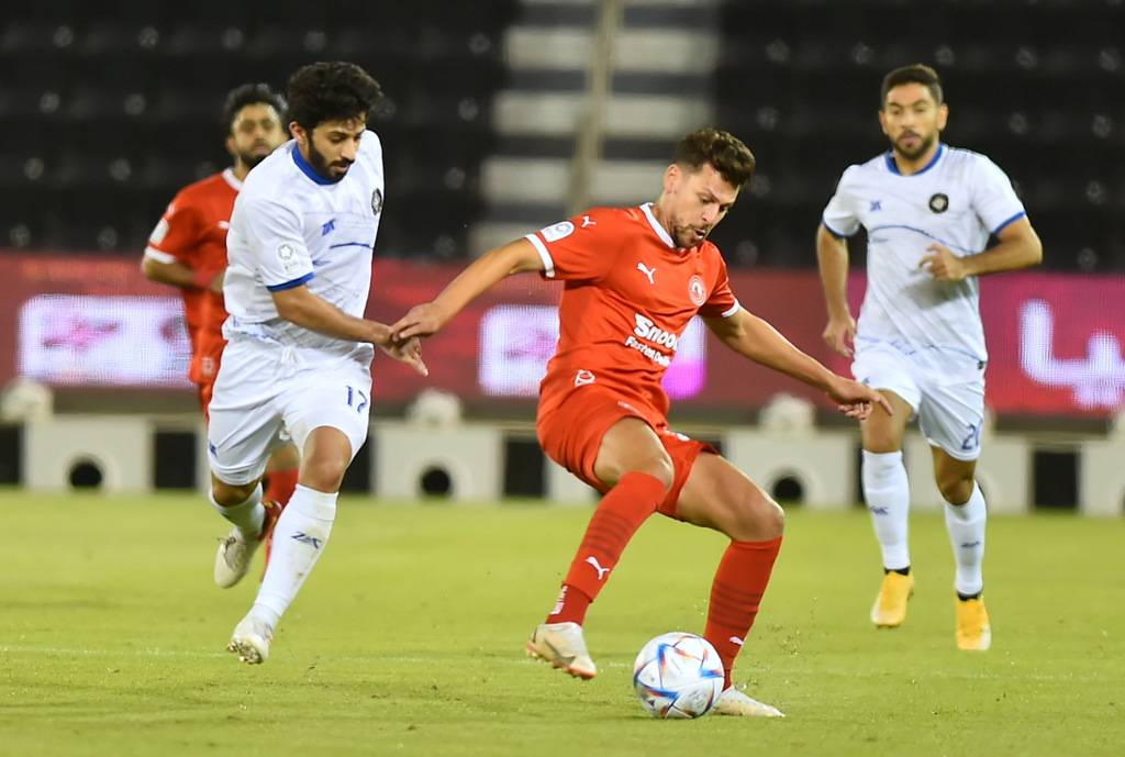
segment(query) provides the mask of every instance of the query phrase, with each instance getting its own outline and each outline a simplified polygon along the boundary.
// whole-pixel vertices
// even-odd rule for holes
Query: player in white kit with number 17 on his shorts
[[[418,341],[363,318],[382,210],[382,151],[367,130],[379,84],[351,63],[289,80],[294,138],[248,177],[231,216],[227,345],[207,429],[212,504],[231,521],[215,582],[233,586],[273,550],[227,649],[263,663],[273,629],[327,542],[344,471],[368,433],[374,345],[422,375]],[[284,512],[261,502],[270,454],[291,439],[299,483]]]

